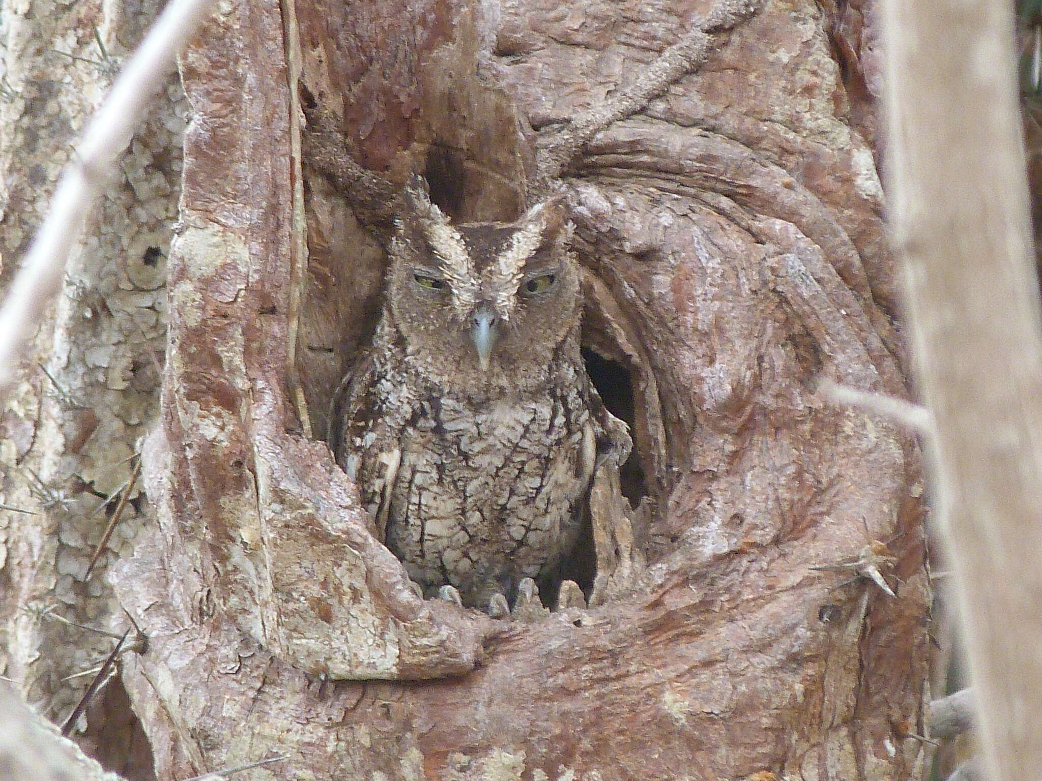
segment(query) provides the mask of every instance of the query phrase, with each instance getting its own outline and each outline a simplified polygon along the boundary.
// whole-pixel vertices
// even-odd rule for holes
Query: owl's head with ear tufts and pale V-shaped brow
[[[539,382],[579,319],[579,270],[562,198],[516,223],[452,225],[422,186],[405,191],[387,309],[408,353],[442,384]]]

